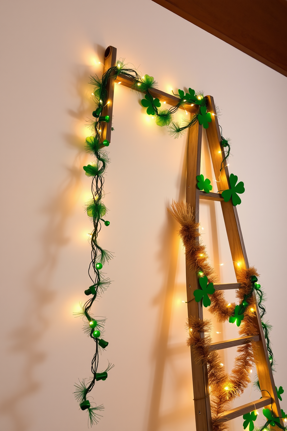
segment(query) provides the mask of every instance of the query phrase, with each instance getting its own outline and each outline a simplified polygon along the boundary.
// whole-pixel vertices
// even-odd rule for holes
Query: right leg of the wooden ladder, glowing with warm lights
[[[213,97],[207,96],[207,109],[210,112],[216,113],[215,104]],[[221,134],[219,131],[218,121],[216,115],[213,116],[213,120],[209,127],[206,129],[207,140],[210,147],[211,159],[213,162],[213,169],[216,180],[219,180],[219,190],[226,190],[229,188],[229,174],[228,168],[225,162],[225,168],[222,169],[220,174],[220,166],[222,162],[222,154],[224,154],[224,148],[221,146]],[[235,275],[238,276],[238,268],[249,268],[247,254],[244,246],[244,241],[241,233],[239,224],[237,209],[232,205],[231,200],[229,202],[222,202],[222,213],[225,222],[225,228],[228,236],[228,242],[230,246],[231,256],[234,263]],[[262,329],[261,318],[259,309],[257,306],[257,300],[255,292],[253,293],[256,303],[256,313],[254,313],[253,322],[257,327],[259,340],[255,341],[256,344],[256,370],[259,379],[260,388],[262,390],[262,397],[272,398],[272,410],[275,416],[281,416],[281,409],[278,401],[278,396],[275,388],[274,378],[272,369],[270,366],[268,351],[266,347],[265,337]],[[271,409],[271,405],[265,406]],[[283,425],[281,419],[281,425]],[[276,427],[279,430],[280,428]]]

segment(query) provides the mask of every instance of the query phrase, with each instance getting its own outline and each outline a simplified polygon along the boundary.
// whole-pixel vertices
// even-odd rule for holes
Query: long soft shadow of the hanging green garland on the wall
[[[77,112],[68,112],[70,116],[80,119],[82,124],[86,120],[87,110],[90,111],[90,107],[86,106],[84,91],[86,77],[90,71],[85,69],[81,74],[75,74],[77,95],[80,98],[79,109]],[[23,312],[21,332],[17,329],[11,334],[14,341],[12,353],[21,358],[19,362],[21,361],[22,366],[18,370],[19,380],[15,392],[0,404],[0,414],[8,417],[10,429],[13,431],[27,431],[31,428],[32,412],[29,415],[23,403],[41,387],[41,381],[35,376],[35,372],[47,356],[47,352],[40,350],[39,344],[49,327],[47,306],[56,299],[56,291],[51,287],[52,278],[62,247],[69,242],[66,225],[81,191],[80,177],[86,158],[83,153],[83,139],[72,134],[64,138],[69,147],[77,149],[77,153],[71,167],[67,169],[65,180],[59,185],[59,192],[42,210],[41,215],[48,220],[40,236],[42,251],[39,261],[28,275],[27,294],[30,302]]]

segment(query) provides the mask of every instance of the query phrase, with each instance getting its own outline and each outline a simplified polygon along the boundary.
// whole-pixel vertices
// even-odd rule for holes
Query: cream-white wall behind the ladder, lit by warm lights
[[[87,82],[102,72],[110,44],[161,90],[204,90],[220,107],[232,139],[230,172],[246,186],[238,212],[247,254],[262,274],[274,325],[275,382],[286,388],[286,78],[150,0],[1,7],[1,430],[87,428],[72,392],[90,376],[94,346],[72,312],[89,285]],[[100,234],[114,252],[113,283],[95,307],[108,318],[100,367],[107,359],[115,367],[92,396],[105,404],[99,431],[185,431],[194,428],[194,411],[184,255],[166,207],[183,196],[186,137],[175,141],[147,122],[139,100],[116,86],[105,181],[111,225]],[[221,280],[231,282],[220,213],[211,204],[201,209],[210,258],[217,269],[226,263]],[[225,361],[231,367],[232,358]]]

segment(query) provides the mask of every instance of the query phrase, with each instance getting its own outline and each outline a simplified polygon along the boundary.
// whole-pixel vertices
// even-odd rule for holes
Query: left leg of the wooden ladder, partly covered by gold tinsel
[[[199,220],[199,190],[196,176],[200,175],[202,126],[198,123],[189,130],[186,202],[194,211],[195,220]],[[188,316],[203,319],[202,305],[194,301],[193,292],[198,288],[198,277],[186,265],[186,290]],[[201,335],[204,337],[204,333]],[[198,431],[212,431],[210,397],[207,377],[207,365],[196,361],[191,348],[191,367],[194,394],[195,422]]]

